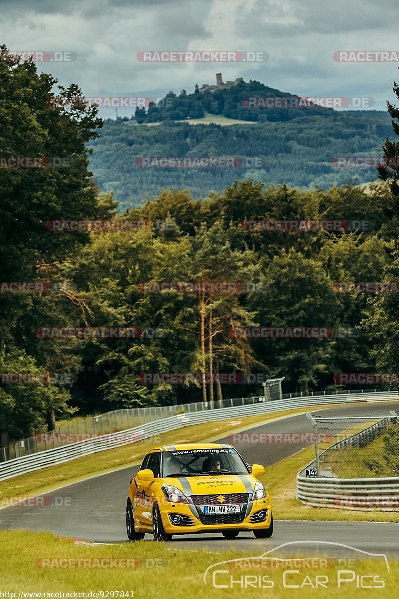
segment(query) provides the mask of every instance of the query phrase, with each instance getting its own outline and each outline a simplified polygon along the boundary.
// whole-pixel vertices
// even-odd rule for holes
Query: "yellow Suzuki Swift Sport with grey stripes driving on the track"
[[[264,467],[248,464],[232,445],[217,443],[155,447],[130,481],[126,530],[130,540],[153,533],[157,541],[173,534],[240,531],[271,537],[270,495],[257,476]]]

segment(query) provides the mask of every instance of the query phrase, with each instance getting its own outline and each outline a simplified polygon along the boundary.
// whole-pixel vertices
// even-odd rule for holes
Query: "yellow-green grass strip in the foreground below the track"
[[[119,592],[120,597],[120,592],[123,591],[124,597],[136,599],[141,597],[251,599],[251,597],[266,597],[266,595],[273,599],[283,597],[336,599],[342,596],[350,596],[351,599],[357,597],[388,599],[397,595],[399,562],[391,559],[388,560],[389,571],[382,558],[355,560],[349,568],[342,568],[336,559],[328,561],[328,567],[311,569],[306,568],[306,564],[298,566],[289,561],[284,564],[284,568],[254,568],[248,567],[250,565],[248,560],[215,567],[215,564],[226,560],[254,558],[274,546],[276,543],[270,541],[266,543],[261,539],[258,540],[258,550],[245,553],[237,550],[215,553],[206,548],[173,549],[170,544],[166,546],[155,541],[89,546],[78,545],[70,539],[59,538],[48,533],[5,531],[0,533],[2,556],[0,591],[14,592],[16,599],[19,598],[19,592],[23,591],[69,593],[77,591],[86,593],[86,597],[90,597],[90,591],[103,591],[103,597],[117,597]],[[272,555],[287,557],[287,554],[282,551]],[[297,556],[307,557],[299,554]],[[352,558],[352,555],[348,554],[348,558]],[[109,567],[110,565],[112,567]],[[237,567],[238,565],[241,567]],[[209,567],[211,569],[206,575],[205,583],[204,575]],[[344,569],[346,572],[343,571]],[[213,577],[215,570],[224,570],[224,572],[217,573]],[[288,589],[284,586],[285,570],[293,570],[285,574],[285,585],[297,585],[298,588]],[[316,589],[314,586],[317,575],[323,577],[318,580],[325,586],[318,586]],[[367,578],[362,579],[361,576]],[[233,585],[230,582],[231,577],[237,581]],[[259,583],[260,577],[267,578]],[[343,578],[348,582],[341,582],[338,588],[338,580]],[[213,580],[216,585],[227,585],[228,588],[214,586]],[[264,582],[265,580],[267,583]],[[259,588],[260,584],[263,588]],[[267,588],[272,584],[272,588]],[[361,588],[362,584],[368,585],[369,588]],[[370,589],[373,585],[376,588]],[[106,595],[107,591],[108,595]],[[11,599],[14,598],[11,596]]]

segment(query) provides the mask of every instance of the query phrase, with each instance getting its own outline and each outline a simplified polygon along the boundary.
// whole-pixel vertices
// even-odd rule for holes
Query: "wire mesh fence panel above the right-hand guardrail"
[[[399,413],[307,415],[315,431],[315,459],[307,477],[339,479],[399,476]]]

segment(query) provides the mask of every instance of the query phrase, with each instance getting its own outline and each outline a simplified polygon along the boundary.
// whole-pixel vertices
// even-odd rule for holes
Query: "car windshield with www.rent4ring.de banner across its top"
[[[164,452],[162,456],[163,477],[248,473],[235,449],[182,449]]]

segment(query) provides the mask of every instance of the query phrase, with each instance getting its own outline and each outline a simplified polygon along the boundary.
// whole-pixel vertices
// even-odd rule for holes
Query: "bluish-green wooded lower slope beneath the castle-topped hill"
[[[381,156],[391,120],[382,111],[337,112],[308,115],[285,122],[258,122],[231,126],[188,125],[164,121],[159,126],[126,126],[106,120],[100,138],[92,144],[90,169],[102,191],[114,191],[120,208],[141,205],[164,187],[190,190],[194,197],[222,192],[235,180],[254,179],[266,184],[287,183],[307,189],[328,188],[357,180],[376,179],[376,170],[340,168],[337,156]],[[226,118],[226,117],[224,117]],[[233,167],[162,167],[148,157],[234,156]]]

